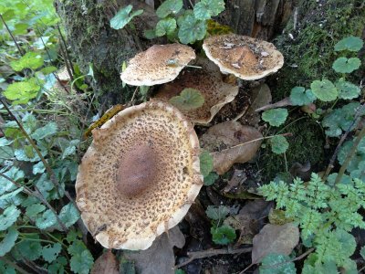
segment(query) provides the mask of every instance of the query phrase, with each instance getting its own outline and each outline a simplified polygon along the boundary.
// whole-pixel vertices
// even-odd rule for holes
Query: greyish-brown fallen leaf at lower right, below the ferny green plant
[[[289,255],[299,242],[299,228],[294,223],[283,226],[267,224],[254,237],[252,263],[259,263],[269,253]]]

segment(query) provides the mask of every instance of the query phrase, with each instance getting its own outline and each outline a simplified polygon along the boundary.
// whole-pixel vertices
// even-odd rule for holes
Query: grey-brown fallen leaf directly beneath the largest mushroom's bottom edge
[[[163,233],[154,240],[151,248],[138,252],[126,252],[126,258],[134,260],[140,274],[173,274],[175,257],[173,247],[183,248],[185,237],[179,227],[173,227],[169,234]]]

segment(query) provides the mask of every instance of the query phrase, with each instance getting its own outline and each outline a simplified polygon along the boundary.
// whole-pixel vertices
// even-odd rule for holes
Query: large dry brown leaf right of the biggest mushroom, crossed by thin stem
[[[255,128],[238,121],[225,121],[211,127],[200,141],[214,157],[214,171],[225,174],[234,163],[246,163],[255,156],[262,140],[250,141],[259,138],[262,134]]]

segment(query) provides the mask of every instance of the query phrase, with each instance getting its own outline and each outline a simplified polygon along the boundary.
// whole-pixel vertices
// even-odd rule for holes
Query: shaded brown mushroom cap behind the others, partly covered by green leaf
[[[219,68],[207,58],[198,58],[196,66],[202,68],[186,68],[171,83],[167,83],[154,96],[157,100],[170,100],[184,89],[199,90],[204,98],[203,106],[193,110],[181,110],[191,121],[207,124],[222,107],[235,99],[238,86],[224,83]]]

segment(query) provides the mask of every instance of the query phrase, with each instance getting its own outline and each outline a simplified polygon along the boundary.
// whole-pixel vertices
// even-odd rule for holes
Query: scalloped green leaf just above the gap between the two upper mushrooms
[[[183,44],[193,44],[203,40],[206,34],[206,22],[196,19],[193,15],[186,15],[178,20],[180,26],[178,37]]]

